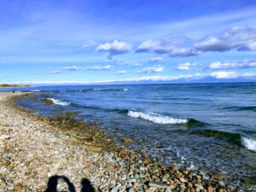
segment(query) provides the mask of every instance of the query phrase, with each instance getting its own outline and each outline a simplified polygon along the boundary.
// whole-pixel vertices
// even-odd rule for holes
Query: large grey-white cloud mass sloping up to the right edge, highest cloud
[[[216,36],[203,39],[195,44],[201,51],[256,50],[256,31],[247,26],[234,26]]]

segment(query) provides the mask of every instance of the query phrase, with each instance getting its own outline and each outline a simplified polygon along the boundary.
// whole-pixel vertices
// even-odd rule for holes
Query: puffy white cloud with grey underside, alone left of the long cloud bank
[[[120,42],[118,40],[114,40],[112,43],[100,44],[96,51],[98,52],[108,52],[109,57],[111,58],[113,55],[125,54],[131,50],[131,45],[125,42]]]

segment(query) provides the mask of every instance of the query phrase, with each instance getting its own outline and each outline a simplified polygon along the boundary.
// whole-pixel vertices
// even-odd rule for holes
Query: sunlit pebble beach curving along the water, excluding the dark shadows
[[[3,191],[44,191],[54,175],[68,177],[77,191],[83,178],[90,180],[94,191],[238,191],[221,176],[209,177],[189,167],[168,168],[143,151],[113,150],[114,146],[108,150],[113,140],[95,128],[87,135],[79,134],[69,130],[74,122],[67,118],[49,121],[13,102],[26,94],[0,93]],[[61,183],[61,188],[65,186]]]

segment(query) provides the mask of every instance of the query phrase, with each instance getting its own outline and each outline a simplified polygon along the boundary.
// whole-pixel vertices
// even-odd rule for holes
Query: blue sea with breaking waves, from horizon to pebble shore
[[[4,89],[14,90],[14,89]],[[131,148],[180,166],[222,172],[230,181],[256,175],[256,84],[147,84],[44,86],[18,101],[49,117],[79,112],[102,123]],[[48,98],[53,105],[45,105]],[[255,178],[254,178],[255,179]]]

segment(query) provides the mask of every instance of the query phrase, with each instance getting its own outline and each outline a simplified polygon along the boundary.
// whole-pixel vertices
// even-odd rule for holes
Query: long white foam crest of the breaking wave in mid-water
[[[131,110],[129,110],[127,115],[133,118],[146,119],[156,124],[185,124],[185,123],[188,123],[189,121],[188,119],[172,118],[169,116],[160,115],[158,113],[143,113],[143,112],[136,112]]]

